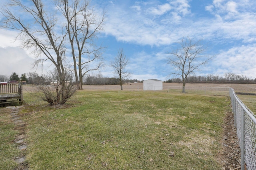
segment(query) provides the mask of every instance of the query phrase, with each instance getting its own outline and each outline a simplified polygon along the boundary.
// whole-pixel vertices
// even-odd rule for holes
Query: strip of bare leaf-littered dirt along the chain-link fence
[[[230,111],[224,119],[224,135],[222,138],[222,152],[220,152],[220,161],[223,164],[223,170],[240,169],[240,147],[234,127],[234,114]]]

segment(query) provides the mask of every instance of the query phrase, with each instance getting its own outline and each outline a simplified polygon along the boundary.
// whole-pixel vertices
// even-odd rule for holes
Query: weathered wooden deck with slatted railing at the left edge
[[[0,84],[0,107],[6,104],[22,104],[22,83]]]

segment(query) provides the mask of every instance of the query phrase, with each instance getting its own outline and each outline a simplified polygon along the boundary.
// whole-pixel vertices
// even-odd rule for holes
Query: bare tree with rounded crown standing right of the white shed
[[[201,45],[202,39],[193,42],[193,39],[187,37],[182,39],[178,44],[180,47],[172,49],[168,64],[174,68],[175,74],[182,77],[182,92],[185,92],[188,75],[199,70],[200,66],[206,64],[212,57],[205,55],[207,46]]]

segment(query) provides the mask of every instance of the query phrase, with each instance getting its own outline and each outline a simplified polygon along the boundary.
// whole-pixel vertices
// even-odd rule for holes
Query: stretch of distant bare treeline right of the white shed
[[[172,78],[165,82],[182,82],[181,78]],[[225,73],[224,76],[218,76],[217,74],[208,74],[207,76],[189,76],[187,83],[244,83],[244,84],[256,84],[256,78],[249,78],[244,75],[237,75],[234,73]]]

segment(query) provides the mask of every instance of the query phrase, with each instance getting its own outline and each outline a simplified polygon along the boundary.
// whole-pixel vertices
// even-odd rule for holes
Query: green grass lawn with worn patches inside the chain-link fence
[[[28,93],[24,100],[30,170],[222,169],[228,97],[80,90],[64,106]],[[0,108],[0,169],[13,170],[16,132],[6,110]]]

